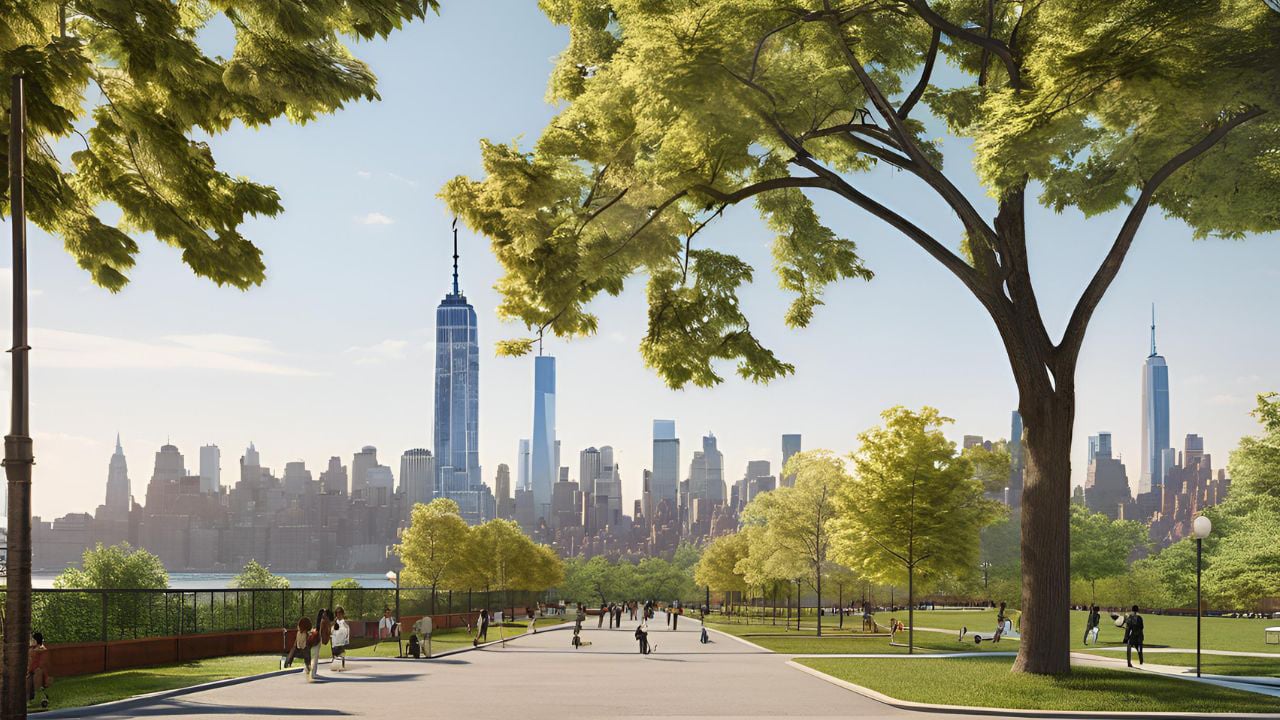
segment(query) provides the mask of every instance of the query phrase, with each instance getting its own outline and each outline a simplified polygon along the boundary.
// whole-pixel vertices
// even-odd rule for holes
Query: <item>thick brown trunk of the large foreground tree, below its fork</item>
[[[1023,388],[1023,615],[1014,670],[1061,675],[1070,662],[1070,503],[1074,378],[1056,392]],[[1029,397],[1030,396],[1030,397]]]

